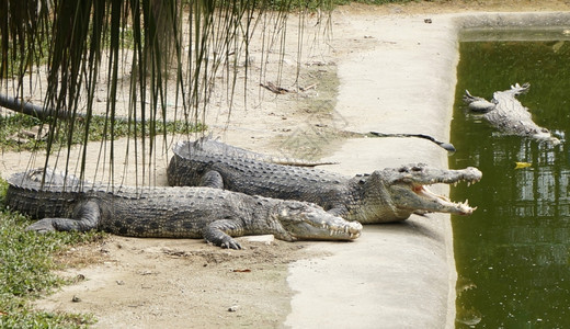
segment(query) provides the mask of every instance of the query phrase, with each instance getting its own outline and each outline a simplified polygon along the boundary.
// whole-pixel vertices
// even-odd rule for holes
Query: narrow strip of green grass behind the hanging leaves
[[[65,124],[64,122],[61,122]],[[0,149],[4,151],[22,151],[22,150],[33,150],[35,148],[44,149],[46,147],[46,140],[34,140],[34,138],[22,138],[24,143],[18,143],[12,136],[23,132],[30,131],[33,127],[42,126],[43,122],[38,118],[32,117],[25,114],[14,114],[0,116]],[[149,136],[150,125],[147,123],[145,126],[141,123],[128,123],[126,120],[115,120],[114,122],[114,139],[134,136],[134,132],[137,132],[137,137],[141,136],[142,128],[145,127],[145,136]],[[167,122],[166,126],[162,123],[157,123],[157,126],[153,128],[155,135],[163,134],[164,131],[168,134],[186,134],[193,132],[202,132],[206,127],[202,124],[185,124],[182,121],[176,122]],[[47,123],[43,124],[42,129],[47,132],[48,125]],[[103,116],[93,116],[92,122],[89,126],[89,140],[98,141],[103,140],[103,138],[110,138],[110,129],[107,126],[105,131],[105,117]],[[77,145],[82,143],[82,136],[86,131],[86,122],[83,118],[78,118],[76,121],[75,134],[71,138],[71,144]],[[66,145],[68,140],[68,134],[66,128],[59,129],[60,134],[56,139],[56,143],[61,145]]]

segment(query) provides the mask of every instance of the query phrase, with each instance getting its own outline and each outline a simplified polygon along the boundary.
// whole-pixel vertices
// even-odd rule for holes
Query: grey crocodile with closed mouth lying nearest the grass
[[[360,223],[311,203],[208,188],[114,188],[50,169],[15,173],[8,183],[8,207],[39,219],[27,227],[38,232],[99,229],[141,238],[204,238],[241,249],[232,237],[352,240],[362,230]]]

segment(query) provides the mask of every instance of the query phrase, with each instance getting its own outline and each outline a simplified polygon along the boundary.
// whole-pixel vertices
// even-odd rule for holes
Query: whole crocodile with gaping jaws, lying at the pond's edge
[[[453,203],[426,185],[477,182],[476,168],[441,170],[409,164],[346,178],[312,168],[299,168],[236,157],[204,148],[208,138],[179,143],[169,167],[170,185],[210,186],[251,195],[299,200],[321,205],[329,213],[363,224],[398,222],[412,213],[469,215],[467,202]],[[230,146],[227,146],[230,147]]]

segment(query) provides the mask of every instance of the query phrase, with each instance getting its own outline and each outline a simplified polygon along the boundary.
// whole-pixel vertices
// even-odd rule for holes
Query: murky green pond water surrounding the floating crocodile
[[[456,326],[570,328],[570,42],[461,42],[459,50],[449,167],[477,167],[483,179],[452,190],[478,206],[452,218]],[[531,83],[518,100],[561,145],[502,136],[461,101],[466,89],[489,100],[515,82]]]

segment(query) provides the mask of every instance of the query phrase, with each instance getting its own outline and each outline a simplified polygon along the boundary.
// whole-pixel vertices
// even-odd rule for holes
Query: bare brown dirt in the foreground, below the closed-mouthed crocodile
[[[76,283],[36,302],[50,310],[94,314],[96,327],[278,327],[289,313],[287,264],[316,257],[305,242],[239,239],[243,250],[200,240],[111,236],[58,257],[95,262],[60,274]]]

